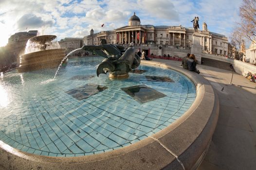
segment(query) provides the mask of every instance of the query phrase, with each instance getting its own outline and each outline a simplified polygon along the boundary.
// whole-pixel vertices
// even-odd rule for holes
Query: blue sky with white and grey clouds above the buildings
[[[29,30],[83,37],[128,25],[135,12],[141,24],[192,27],[195,16],[211,32],[229,37],[242,0],[0,0],[0,47],[10,35]],[[101,25],[104,23],[104,27]]]

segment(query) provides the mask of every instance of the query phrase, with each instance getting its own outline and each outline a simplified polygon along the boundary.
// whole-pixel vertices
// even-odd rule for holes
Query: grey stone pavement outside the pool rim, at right
[[[234,85],[229,85],[232,71],[204,65],[197,68],[216,90],[220,104],[218,124],[198,170],[256,170],[256,83],[234,73]]]

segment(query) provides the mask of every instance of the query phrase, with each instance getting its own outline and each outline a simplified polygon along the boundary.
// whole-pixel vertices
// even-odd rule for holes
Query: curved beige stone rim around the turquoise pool
[[[197,73],[155,61],[143,65],[183,73],[196,86],[195,102],[183,116],[162,131],[107,153],[51,157],[25,153],[0,141],[0,168],[6,170],[140,169],[195,170],[208,150],[218,116],[219,99],[210,83]]]

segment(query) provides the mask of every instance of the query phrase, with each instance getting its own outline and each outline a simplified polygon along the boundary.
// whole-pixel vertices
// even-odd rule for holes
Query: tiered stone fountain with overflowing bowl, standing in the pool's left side
[[[30,38],[25,54],[20,56],[18,72],[58,67],[65,57],[65,49],[60,49],[59,45],[53,46],[52,40],[55,38],[55,35],[41,35]],[[28,48],[36,50],[34,50],[35,52],[33,50],[28,52]]]

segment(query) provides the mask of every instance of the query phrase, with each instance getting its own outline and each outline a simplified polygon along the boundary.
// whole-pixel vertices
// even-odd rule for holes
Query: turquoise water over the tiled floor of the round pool
[[[164,129],[196,98],[195,85],[177,71],[140,66],[146,72],[110,80],[96,76],[101,61],[69,59],[54,81],[55,69],[0,75],[0,140],[38,155],[108,152]],[[145,90],[137,93],[138,85]],[[128,92],[137,95],[125,91],[134,86]]]

